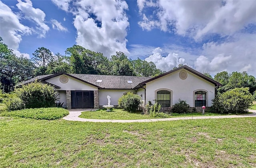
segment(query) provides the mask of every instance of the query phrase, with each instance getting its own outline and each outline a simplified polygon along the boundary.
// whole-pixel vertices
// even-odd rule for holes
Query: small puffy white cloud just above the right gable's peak
[[[187,65],[186,60],[184,58],[180,58],[177,53],[168,54],[165,57],[162,56],[162,49],[160,49],[160,47],[155,48],[152,53],[153,54],[145,60],[147,62],[154,62],[156,67],[161,70],[170,71],[175,66],[178,67],[179,64]]]

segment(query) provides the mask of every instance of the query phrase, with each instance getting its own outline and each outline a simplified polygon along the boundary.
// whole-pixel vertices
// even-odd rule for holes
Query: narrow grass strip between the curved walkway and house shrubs
[[[218,116],[220,114],[206,112],[204,116]],[[202,116],[202,113],[194,112],[189,114],[177,114],[173,113],[171,117],[184,117],[184,116]],[[148,119],[152,118],[150,115],[143,115],[140,112],[130,113],[122,109],[114,109],[112,112],[106,112],[106,110],[98,110],[98,111],[89,111],[82,112],[79,116],[80,118],[88,118],[88,119],[109,119],[109,120],[136,120],[136,119]]]

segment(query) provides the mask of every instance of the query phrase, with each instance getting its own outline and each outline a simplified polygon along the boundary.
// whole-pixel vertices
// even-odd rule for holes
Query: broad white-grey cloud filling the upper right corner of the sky
[[[137,4],[140,10],[145,11],[152,6],[140,0]],[[152,14],[143,15],[142,21],[138,22],[143,29],[160,28],[198,39],[208,33],[232,35],[249,23],[256,23],[256,1],[158,0],[155,5],[158,7]]]

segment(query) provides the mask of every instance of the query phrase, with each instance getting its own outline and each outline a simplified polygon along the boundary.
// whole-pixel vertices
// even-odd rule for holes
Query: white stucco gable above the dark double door
[[[98,90],[97,87],[86,84],[75,78],[71,78],[70,76],[66,76],[68,77],[68,82],[66,84],[63,84],[60,82],[61,76],[66,76],[66,75],[60,75],[54,78],[50,78],[46,80],[46,82],[60,86],[60,89],[56,89],[56,90]]]

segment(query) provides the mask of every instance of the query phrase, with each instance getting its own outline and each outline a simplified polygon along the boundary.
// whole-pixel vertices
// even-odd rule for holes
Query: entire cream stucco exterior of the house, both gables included
[[[185,71],[186,76],[180,76],[180,72]],[[60,78],[66,76],[68,78],[68,82],[63,83],[60,82]],[[183,78],[183,79],[182,79]],[[186,78],[186,79],[184,79]],[[64,102],[64,106],[70,104],[70,92],[72,90],[93,90],[94,91],[94,106],[103,106],[108,104],[107,95],[111,96],[111,105],[117,106],[118,99],[124,95],[126,92],[134,92],[141,97],[143,102],[151,101],[156,99],[157,92],[159,90],[168,90],[171,93],[171,105],[178,102],[178,99],[186,100],[186,102],[194,107],[194,95],[196,91],[205,91],[206,92],[206,106],[212,106],[212,99],[215,96],[215,85],[203,78],[197,76],[196,74],[185,70],[184,68],[172,72],[170,74],[166,74],[160,78],[152,80],[146,83],[146,86],[143,88],[138,88],[137,90],[114,90],[114,89],[98,89],[96,86],[92,86],[87,84],[86,82],[80,81],[76,78],[72,78],[65,74],[55,76],[53,78],[45,80],[51,84],[56,86],[60,86],[60,88],[56,88],[58,91],[58,102]],[[146,89],[146,92],[145,92]],[[68,94],[67,94],[68,93]]]

